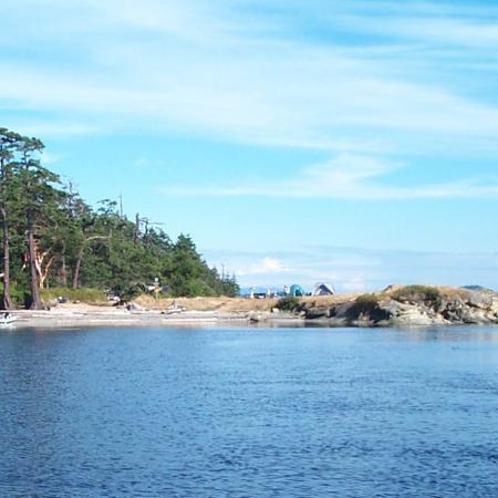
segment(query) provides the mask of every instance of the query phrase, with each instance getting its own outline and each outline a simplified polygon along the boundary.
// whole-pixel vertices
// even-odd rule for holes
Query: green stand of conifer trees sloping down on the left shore
[[[123,294],[158,281],[172,297],[238,292],[235,277],[209,268],[188,236],[172,241],[138,215],[128,220],[113,200],[91,207],[41,164],[43,148],[0,128],[1,309],[19,300],[41,309],[40,289],[49,287]]]

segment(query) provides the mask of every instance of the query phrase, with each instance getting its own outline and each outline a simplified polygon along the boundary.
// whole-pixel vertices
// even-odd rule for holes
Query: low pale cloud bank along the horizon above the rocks
[[[270,257],[259,252],[230,253],[206,251],[208,260],[224,260],[235,271],[242,287],[300,283],[312,290],[317,282],[332,282],[338,291],[380,290],[393,283],[465,286],[479,283],[498,288],[496,252],[430,252],[373,250],[355,247],[314,246],[299,252],[282,250]],[[243,269],[257,267],[264,258],[280,261],[286,272],[256,273]]]

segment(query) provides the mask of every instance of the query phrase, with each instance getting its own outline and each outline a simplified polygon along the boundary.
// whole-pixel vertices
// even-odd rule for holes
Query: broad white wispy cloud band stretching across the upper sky
[[[461,149],[496,143],[498,106],[435,77],[434,66],[417,65],[416,74],[402,75],[404,50],[384,50],[371,60],[373,43],[347,46],[338,39],[295,37],[271,17],[247,14],[243,2],[19,3],[3,20],[10,24],[3,27],[6,50],[7,35],[22,46],[19,33],[27,30],[19,25],[35,24],[33,37],[41,45],[56,44],[66,63],[7,58],[0,94],[25,110],[77,115],[83,127],[98,122],[111,129],[175,129],[356,153],[416,151],[422,141],[435,148],[453,141]],[[347,15],[357,17],[359,6],[343,8],[332,28],[342,22],[351,29]],[[409,17],[390,19],[382,9],[352,32],[371,33],[376,24],[391,32],[393,46],[401,43],[397,33],[405,33],[408,45],[418,43],[421,30],[495,40],[490,23],[442,17],[417,28]]]

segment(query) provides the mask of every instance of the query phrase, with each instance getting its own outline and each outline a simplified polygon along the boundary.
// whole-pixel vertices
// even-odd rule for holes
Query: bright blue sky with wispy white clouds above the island
[[[1,125],[242,286],[498,288],[498,6],[19,0]]]

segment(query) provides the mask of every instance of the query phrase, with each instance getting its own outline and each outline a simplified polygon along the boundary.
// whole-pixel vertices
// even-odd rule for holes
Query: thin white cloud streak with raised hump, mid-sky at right
[[[324,164],[303,168],[292,179],[266,180],[252,185],[167,187],[177,196],[267,196],[352,200],[413,200],[461,197],[497,197],[498,176],[467,178],[433,185],[396,186],[385,178],[402,165],[375,157],[341,154]]]

